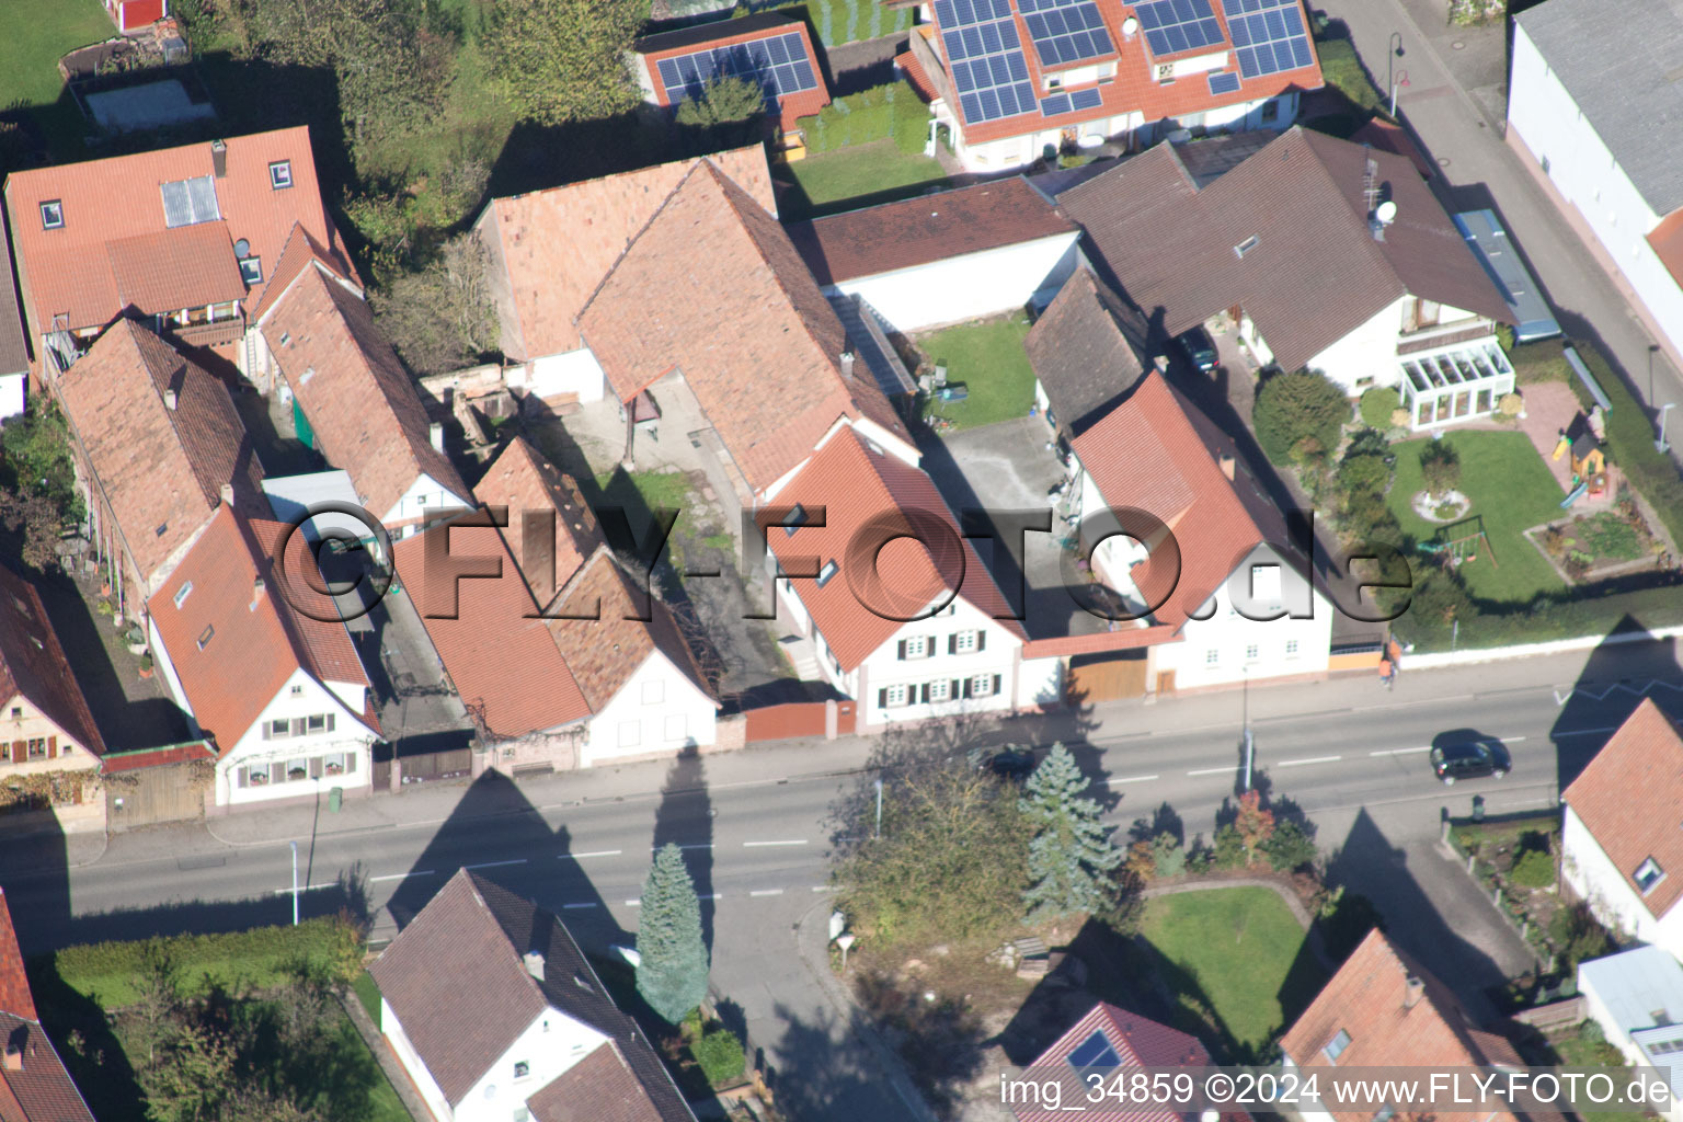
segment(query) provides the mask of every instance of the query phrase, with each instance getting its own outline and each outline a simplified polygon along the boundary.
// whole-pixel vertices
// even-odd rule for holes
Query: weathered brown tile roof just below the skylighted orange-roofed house
[[[59,399],[96,493],[148,580],[210,520],[224,483],[237,506],[268,508],[263,466],[227,387],[133,320],[71,367]]]

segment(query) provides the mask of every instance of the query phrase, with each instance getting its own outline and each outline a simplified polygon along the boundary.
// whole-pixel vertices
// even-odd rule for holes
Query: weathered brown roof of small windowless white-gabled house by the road
[[[648,622],[634,619],[640,609],[641,599],[631,577],[606,545],[584,562],[549,607],[550,616],[599,614],[599,619],[549,621],[549,632],[592,712],[601,712],[656,653],[665,654],[702,693],[710,693],[672,609],[651,597]]]

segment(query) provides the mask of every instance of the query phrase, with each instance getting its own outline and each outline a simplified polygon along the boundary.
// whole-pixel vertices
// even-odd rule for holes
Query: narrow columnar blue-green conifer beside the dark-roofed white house
[[[660,848],[643,880],[636,952],[636,991],[655,1013],[677,1024],[702,1004],[709,967],[702,903],[683,851],[672,843]]]

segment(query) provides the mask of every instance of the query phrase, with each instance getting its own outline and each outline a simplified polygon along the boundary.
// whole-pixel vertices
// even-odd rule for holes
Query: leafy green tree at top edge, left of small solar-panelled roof
[[[523,118],[608,118],[638,103],[624,59],[648,17],[650,0],[495,0],[485,50]]]

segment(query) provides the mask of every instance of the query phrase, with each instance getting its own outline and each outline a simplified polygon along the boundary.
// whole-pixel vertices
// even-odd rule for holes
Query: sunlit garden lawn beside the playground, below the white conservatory
[[[1483,516],[1495,564],[1488,555],[1461,565],[1461,577],[1473,595],[1486,601],[1528,602],[1538,592],[1565,587],[1553,567],[1525,538],[1525,530],[1560,518],[1565,493],[1523,432],[1463,431],[1444,441],[1461,458],[1459,491],[1473,506],[1468,516]],[[1431,441],[1392,444],[1397,479],[1390,488],[1390,510],[1405,533],[1431,540],[1437,523],[1414,513],[1412,498],[1424,490],[1420,449]]]

